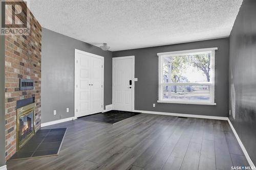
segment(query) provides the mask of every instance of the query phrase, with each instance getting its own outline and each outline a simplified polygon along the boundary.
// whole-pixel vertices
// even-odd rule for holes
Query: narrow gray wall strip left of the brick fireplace
[[[5,165],[5,36],[0,36],[0,167]]]

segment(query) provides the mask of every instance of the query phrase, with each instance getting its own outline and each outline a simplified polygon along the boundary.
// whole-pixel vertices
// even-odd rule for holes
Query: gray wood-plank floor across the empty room
[[[9,160],[10,169],[231,169],[248,162],[227,121],[139,114],[115,125],[74,120],[58,156]]]

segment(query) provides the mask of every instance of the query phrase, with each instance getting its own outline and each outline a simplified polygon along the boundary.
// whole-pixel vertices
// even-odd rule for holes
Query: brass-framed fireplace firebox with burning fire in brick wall
[[[19,150],[35,133],[35,104],[17,109],[17,150]]]

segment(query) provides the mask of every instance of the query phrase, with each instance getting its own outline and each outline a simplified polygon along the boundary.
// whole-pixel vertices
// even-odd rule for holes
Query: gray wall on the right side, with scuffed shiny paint
[[[244,0],[230,34],[229,119],[256,163],[256,1]]]

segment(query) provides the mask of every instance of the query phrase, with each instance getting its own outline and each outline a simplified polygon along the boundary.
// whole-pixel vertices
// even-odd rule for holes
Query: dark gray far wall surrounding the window
[[[216,62],[216,106],[157,103],[157,53],[218,47]],[[229,39],[214,39],[175,45],[117,51],[113,57],[135,56],[135,109],[210,116],[226,116],[228,112]],[[156,107],[153,108],[153,103]]]

